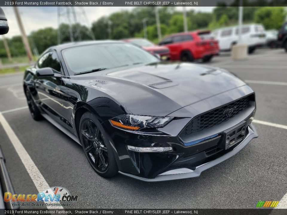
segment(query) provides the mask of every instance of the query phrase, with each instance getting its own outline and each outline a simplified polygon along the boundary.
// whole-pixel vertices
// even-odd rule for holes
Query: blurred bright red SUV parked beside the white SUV
[[[170,49],[170,60],[193,61],[202,59],[208,62],[218,54],[218,41],[209,30],[177,33],[165,37],[159,45]]]

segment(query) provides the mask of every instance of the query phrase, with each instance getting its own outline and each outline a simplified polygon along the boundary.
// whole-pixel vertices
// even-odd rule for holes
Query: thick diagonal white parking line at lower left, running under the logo
[[[46,182],[45,178],[40,173],[39,169],[31,159],[30,155],[0,112],[0,123],[2,127],[4,128],[7,136],[9,137],[11,143],[13,144],[16,152],[18,153],[23,165],[25,166],[29,176],[31,177],[32,181],[34,182],[37,190],[40,192],[43,192],[50,188],[48,183]],[[53,193],[53,191],[50,189],[49,193]],[[47,202],[50,203],[50,202]],[[63,209],[62,206],[47,206],[48,209]]]

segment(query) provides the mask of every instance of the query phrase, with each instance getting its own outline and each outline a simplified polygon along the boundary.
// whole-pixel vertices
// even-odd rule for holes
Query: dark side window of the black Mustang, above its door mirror
[[[61,73],[61,64],[57,56],[57,53],[54,51],[48,52],[45,55],[43,55],[39,59],[37,66],[38,68],[51,67],[56,72]]]

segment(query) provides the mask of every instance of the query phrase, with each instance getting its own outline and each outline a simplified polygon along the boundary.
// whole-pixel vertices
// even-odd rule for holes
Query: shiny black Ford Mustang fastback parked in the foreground
[[[196,177],[257,137],[255,95],[244,82],[213,67],[163,63],[124,42],[51,47],[23,86],[33,119],[79,142],[103,177]]]

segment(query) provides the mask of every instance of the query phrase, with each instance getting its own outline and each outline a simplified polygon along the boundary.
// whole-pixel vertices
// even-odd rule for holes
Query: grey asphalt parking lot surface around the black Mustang
[[[31,118],[22,90],[23,74],[0,76],[0,112],[45,182],[79,196],[71,208],[255,208],[260,200],[280,201],[287,193],[286,59],[282,49],[260,49],[248,60],[233,61],[224,53],[209,63],[229,70],[253,88],[259,137],[198,178],[157,183],[122,175],[101,178],[80,145],[48,121]],[[1,124],[0,145],[16,193],[38,193],[35,180],[41,184],[43,179],[33,182],[23,164],[26,161],[19,157],[23,150],[16,151]]]

